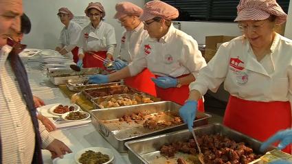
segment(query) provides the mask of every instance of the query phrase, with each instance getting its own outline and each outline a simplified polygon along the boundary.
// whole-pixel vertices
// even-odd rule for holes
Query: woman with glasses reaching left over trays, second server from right
[[[93,75],[89,80],[94,83],[112,82],[137,75],[148,68],[156,76],[152,80],[157,97],[183,104],[188,98],[188,84],[195,80],[206,62],[196,40],[172,25],[170,20],[177,16],[178,10],[167,3],[146,3],[139,19],[144,21],[144,29],[150,37],[143,41],[138,56],[116,73]],[[203,110],[203,101],[199,104],[200,109]]]

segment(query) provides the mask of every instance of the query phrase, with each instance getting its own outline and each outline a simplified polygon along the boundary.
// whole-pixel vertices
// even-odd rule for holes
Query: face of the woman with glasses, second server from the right
[[[147,30],[150,38],[159,38],[162,32],[162,25],[160,21],[155,21],[150,19],[148,21],[144,21],[144,30]]]

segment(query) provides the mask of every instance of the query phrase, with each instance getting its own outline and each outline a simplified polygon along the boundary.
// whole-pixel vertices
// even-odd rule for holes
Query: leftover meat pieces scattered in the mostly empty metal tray
[[[171,113],[173,115],[173,113]],[[156,115],[151,116],[149,113],[132,113],[131,115],[123,115],[120,117],[119,121],[126,121],[127,123],[131,123],[134,121],[139,124],[141,121],[144,121],[144,128],[148,128],[150,130],[157,130],[159,128],[164,128],[166,126],[178,125],[182,124],[181,118],[175,115],[175,117],[171,117],[168,120],[157,121],[156,118],[161,115],[166,115],[166,113],[161,112]]]

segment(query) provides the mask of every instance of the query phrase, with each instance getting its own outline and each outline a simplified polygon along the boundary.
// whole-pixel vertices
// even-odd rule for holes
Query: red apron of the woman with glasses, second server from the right
[[[187,75],[181,75],[178,78],[185,77]],[[159,77],[158,75],[155,75],[155,77]],[[172,101],[177,104],[183,105],[185,104],[186,100],[188,99],[188,95],[190,93],[190,89],[188,88],[188,85],[183,85],[181,88],[168,88],[168,89],[162,89],[155,85],[157,97],[166,100],[166,101]],[[199,99],[197,109],[201,112],[204,112],[204,102],[203,99]]]

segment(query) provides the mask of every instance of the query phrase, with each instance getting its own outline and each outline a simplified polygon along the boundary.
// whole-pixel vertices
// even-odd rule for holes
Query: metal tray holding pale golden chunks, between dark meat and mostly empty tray
[[[139,93],[139,91],[137,91],[136,93],[125,93],[125,94],[119,94],[119,95],[108,95],[108,96],[104,96],[104,97],[98,97],[98,98],[93,98],[91,99],[92,104],[94,105],[94,108],[96,109],[100,109],[100,108],[117,108],[117,107],[103,107],[101,106],[101,102],[106,101],[106,99],[111,99],[114,98],[116,99],[116,97],[123,97],[123,98],[127,98],[127,99],[135,99],[135,94],[138,94],[139,97],[147,97],[150,98],[150,100],[152,100],[153,102],[160,102],[161,99],[159,97],[155,97],[153,95],[148,95],[147,93]],[[148,103],[153,103],[153,102],[138,102],[138,104],[148,104]],[[125,105],[123,104],[122,106],[132,106],[133,104],[128,104]],[[135,104],[134,104],[135,105]],[[121,106],[119,106],[121,107]]]

